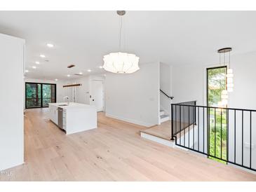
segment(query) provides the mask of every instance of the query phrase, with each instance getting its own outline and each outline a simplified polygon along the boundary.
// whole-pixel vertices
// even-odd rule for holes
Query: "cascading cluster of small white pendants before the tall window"
[[[234,88],[234,83],[233,83],[233,70],[230,68],[230,52],[231,52],[232,48],[222,48],[220,50],[218,50],[217,52],[220,53],[220,55],[223,53],[224,55],[224,64],[226,64],[226,53],[229,53],[229,62],[227,64],[228,69],[227,69],[227,75],[226,75],[226,79],[227,79],[227,85],[226,88],[224,90],[222,90],[222,95],[221,95],[221,99],[222,101],[219,102],[220,106],[226,106],[228,99],[229,99],[229,95],[228,92],[232,92],[233,88]],[[221,65],[221,60],[220,60],[220,65]]]

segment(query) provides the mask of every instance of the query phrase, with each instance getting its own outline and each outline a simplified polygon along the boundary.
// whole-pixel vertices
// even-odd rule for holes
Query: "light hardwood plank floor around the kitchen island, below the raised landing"
[[[142,139],[146,128],[103,113],[97,129],[65,135],[47,110],[27,110],[25,164],[1,181],[256,181],[256,174]]]

